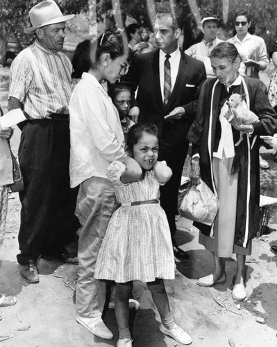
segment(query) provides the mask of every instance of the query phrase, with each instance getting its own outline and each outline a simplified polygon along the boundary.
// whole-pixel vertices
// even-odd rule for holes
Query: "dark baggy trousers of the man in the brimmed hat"
[[[25,190],[19,229],[19,264],[63,253],[76,239],[78,187],[69,187],[69,121],[28,121],[22,129],[19,164]]]

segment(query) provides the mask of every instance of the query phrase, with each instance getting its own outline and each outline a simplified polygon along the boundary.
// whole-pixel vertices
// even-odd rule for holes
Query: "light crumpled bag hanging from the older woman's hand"
[[[178,210],[181,217],[211,226],[219,209],[219,201],[208,185],[200,181],[196,186],[186,180],[179,187]]]

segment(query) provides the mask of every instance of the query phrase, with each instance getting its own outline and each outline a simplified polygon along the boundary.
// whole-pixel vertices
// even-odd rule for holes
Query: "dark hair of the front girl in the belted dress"
[[[126,151],[128,153],[133,153],[133,146],[139,142],[143,133],[148,133],[154,135],[158,138],[158,142],[160,145],[160,130],[155,124],[152,123],[140,123],[131,126],[128,131],[127,139],[126,139]]]

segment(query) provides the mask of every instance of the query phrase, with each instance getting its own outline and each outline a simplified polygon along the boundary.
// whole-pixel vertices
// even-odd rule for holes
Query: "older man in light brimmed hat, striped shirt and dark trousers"
[[[62,53],[65,22],[55,1],[29,11],[31,27],[24,33],[36,40],[18,54],[10,67],[8,109],[21,108],[26,116],[19,144],[25,190],[22,203],[17,262],[26,282],[39,282],[40,255],[78,264],[66,246],[76,240],[74,215],[78,188],[69,187],[69,111],[73,90],[72,65]]]

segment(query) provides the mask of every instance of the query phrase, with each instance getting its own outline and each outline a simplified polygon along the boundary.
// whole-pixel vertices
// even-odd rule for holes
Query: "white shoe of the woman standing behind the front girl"
[[[96,337],[100,337],[103,340],[111,340],[113,339],[113,334],[107,325],[103,322],[101,317],[96,318],[86,318],[76,316],[76,321],[83,325],[83,327],[87,328],[93,335]]]

